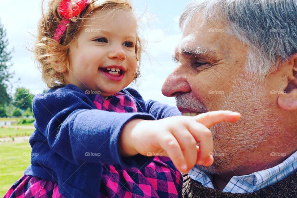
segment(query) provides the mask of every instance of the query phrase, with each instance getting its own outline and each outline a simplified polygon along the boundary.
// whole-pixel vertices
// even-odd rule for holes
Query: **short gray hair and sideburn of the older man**
[[[297,0],[193,0],[183,11],[181,30],[194,15],[222,21],[228,32],[249,46],[247,70],[263,76],[297,53]]]

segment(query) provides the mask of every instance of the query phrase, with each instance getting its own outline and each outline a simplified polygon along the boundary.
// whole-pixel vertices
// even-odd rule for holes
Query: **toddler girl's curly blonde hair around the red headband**
[[[131,5],[125,0],[91,0],[78,17],[70,19],[70,23],[58,43],[54,40],[54,33],[63,19],[58,11],[60,3],[61,0],[50,0],[47,11],[44,12],[42,9],[42,17],[38,23],[37,41],[33,49],[35,58],[39,62],[38,68],[42,72],[42,80],[49,88],[66,84],[64,74],[69,70],[69,48],[77,41],[76,38],[88,20],[88,16],[94,11],[107,9],[114,13],[124,9],[133,11]],[[42,1],[42,8],[43,5],[44,1]],[[142,52],[142,43],[136,33],[135,53],[138,65],[135,78],[140,75]]]

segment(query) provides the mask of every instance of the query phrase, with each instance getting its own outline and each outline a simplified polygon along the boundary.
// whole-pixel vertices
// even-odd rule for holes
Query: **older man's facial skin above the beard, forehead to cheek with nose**
[[[230,92],[232,81],[245,74],[246,49],[239,43],[226,35],[223,25],[189,24],[175,49],[178,67],[164,83],[163,94],[177,96],[179,92],[191,92],[208,111],[217,110],[223,102],[222,95]]]

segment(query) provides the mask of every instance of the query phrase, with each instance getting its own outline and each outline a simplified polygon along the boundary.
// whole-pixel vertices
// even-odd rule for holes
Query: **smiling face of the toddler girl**
[[[136,25],[128,9],[94,12],[69,49],[67,84],[103,97],[127,87],[137,67]]]

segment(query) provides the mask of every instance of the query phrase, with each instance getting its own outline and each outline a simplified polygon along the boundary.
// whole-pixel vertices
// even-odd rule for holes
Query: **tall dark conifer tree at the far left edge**
[[[0,20],[0,106],[9,104],[11,97],[8,93],[10,87],[9,80],[12,78],[13,72],[9,71],[12,66],[11,51],[7,50],[8,39],[6,39],[6,30]]]

